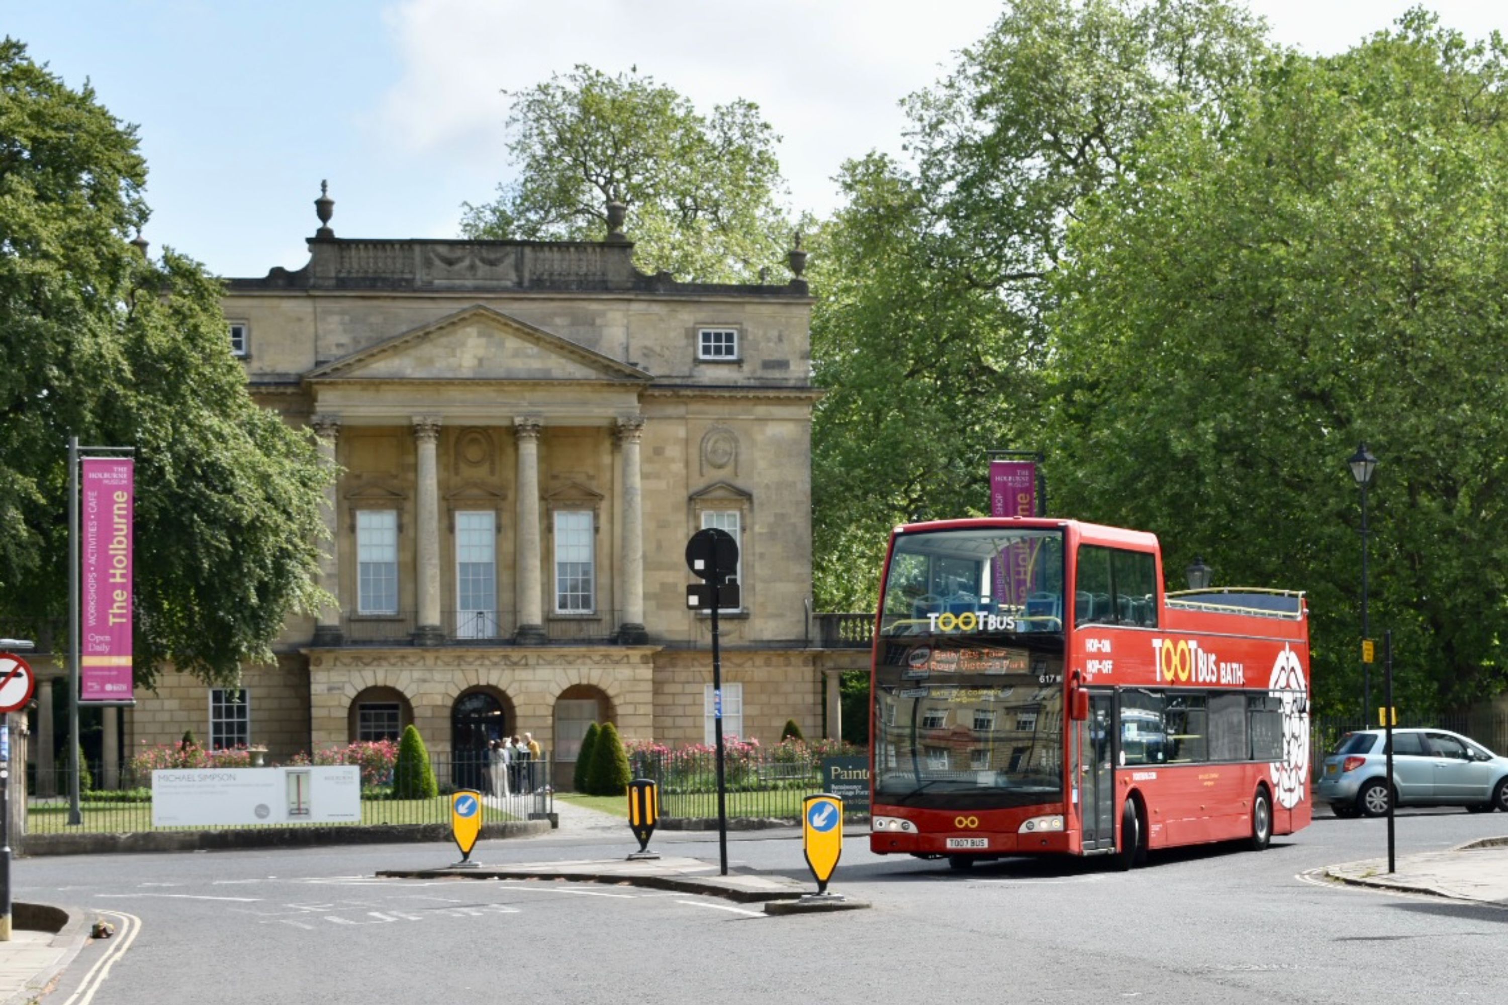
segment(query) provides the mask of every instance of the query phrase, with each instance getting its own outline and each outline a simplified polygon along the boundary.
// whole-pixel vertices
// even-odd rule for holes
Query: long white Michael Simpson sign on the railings
[[[362,770],[354,764],[152,771],[154,827],[360,820]]]

